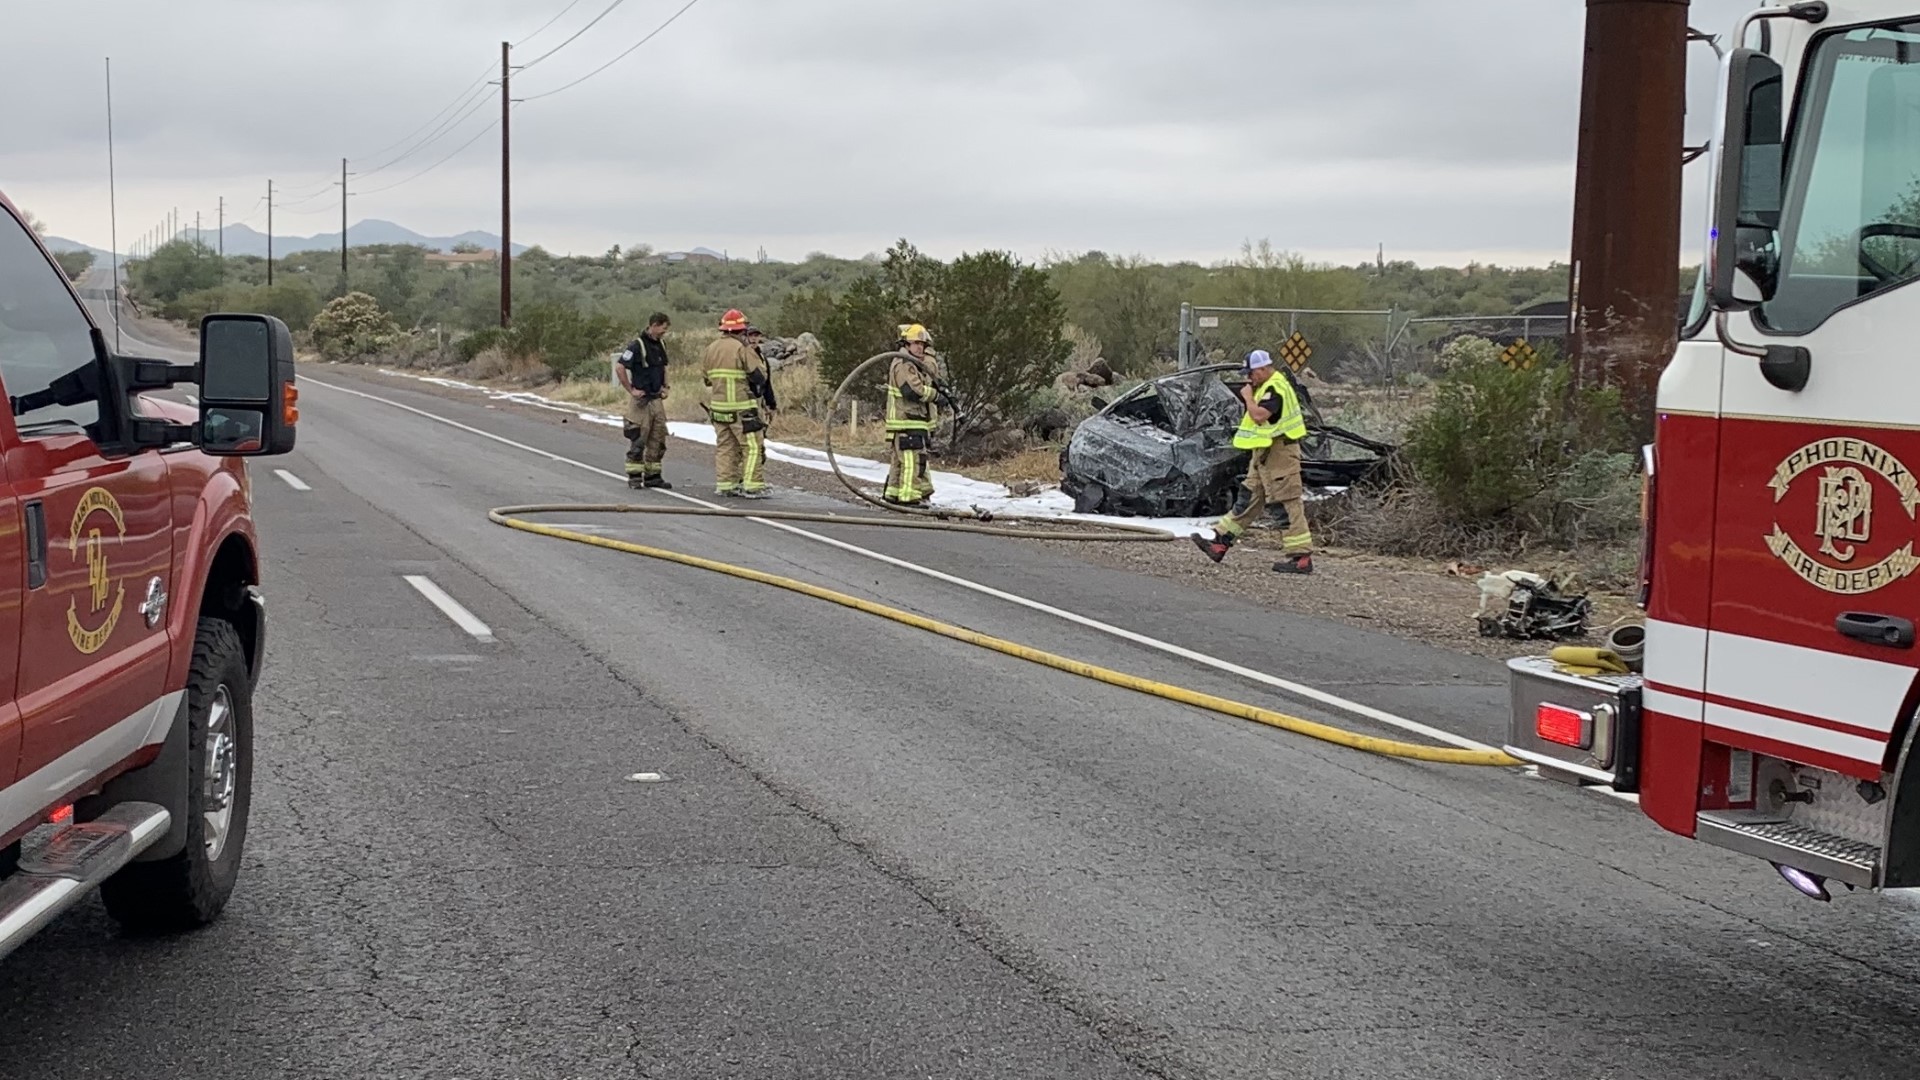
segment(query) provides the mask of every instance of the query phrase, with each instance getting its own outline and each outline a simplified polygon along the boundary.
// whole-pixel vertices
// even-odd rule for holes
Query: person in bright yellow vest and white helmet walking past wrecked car
[[[1246,532],[1246,525],[1267,505],[1277,505],[1283,517],[1281,548],[1284,557],[1273,563],[1275,573],[1313,573],[1313,532],[1308,528],[1306,488],[1300,480],[1300,440],[1308,436],[1300,394],[1267,350],[1246,356],[1246,386],[1240,388],[1246,413],[1233,432],[1236,450],[1252,450],[1246,480],[1235,507],[1213,527],[1213,538],[1192,534],[1194,546],[1215,563]]]

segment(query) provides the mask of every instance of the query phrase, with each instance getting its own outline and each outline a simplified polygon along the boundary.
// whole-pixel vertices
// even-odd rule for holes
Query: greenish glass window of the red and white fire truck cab
[[[1805,71],[1759,311],[1786,332],[1920,277],[1920,21],[1816,38]]]

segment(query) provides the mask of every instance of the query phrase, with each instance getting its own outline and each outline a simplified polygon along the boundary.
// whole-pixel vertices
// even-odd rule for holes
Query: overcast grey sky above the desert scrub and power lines
[[[611,2],[534,35],[566,0],[0,0],[0,190],[108,246],[111,56],[123,246],[175,206],[211,229],[219,196],[265,229],[269,177],[276,233],[338,233],[342,156],[367,173],[353,221],[497,231],[497,131],[411,179],[497,117],[497,90],[392,160],[501,40],[534,35],[530,98],[685,0],[624,0],[536,61]],[[1692,21],[1724,33],[1749,6],[1693,0]],[[1210,261],[1269,238],[1540,263],[1567,254],[1582,21],[1580,0],[701,0],[515,110],[515,240]],[[1713,54],[1690,61],[1699,142]]]

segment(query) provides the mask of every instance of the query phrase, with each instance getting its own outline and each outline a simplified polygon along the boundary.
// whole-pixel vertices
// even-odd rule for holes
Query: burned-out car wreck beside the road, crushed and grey
[[[1246,450],[1233,448],[1240,396],[1212,365],[1142,382],[1081,421],[1060,452],[1060,490],[1079,513],[1213,517],[1235,500]],[[1300,444],[1308,490],[1348,488],[1380,475],[1394,448],[1329,427],[1296,380],[1308,419]]]

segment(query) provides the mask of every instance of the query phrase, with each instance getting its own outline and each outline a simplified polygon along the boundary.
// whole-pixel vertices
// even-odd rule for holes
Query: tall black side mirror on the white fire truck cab
[[[1745,311],[1772,298],[1778,282],[1780,188],[1786,177],[1786,77],[1751,48],[1726,58],[1718,183],[1707,300],[1716,311]],[[1740,275],[1759,298],[1738,296]]]

